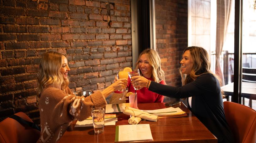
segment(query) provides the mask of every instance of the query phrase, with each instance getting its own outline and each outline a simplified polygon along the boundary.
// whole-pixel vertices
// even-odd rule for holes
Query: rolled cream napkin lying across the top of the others
[[[154,122],[158,121],[158,116],[152,115],[150,113],[147,113],[147,112],[144,112],[139,109],[132,108],[132,107],[128,107],[128,106],[125,107],[125,109],[123,110],[123,113],[126,115],[140,117],[142,119],[146,119],[149,121],[154,121]]]

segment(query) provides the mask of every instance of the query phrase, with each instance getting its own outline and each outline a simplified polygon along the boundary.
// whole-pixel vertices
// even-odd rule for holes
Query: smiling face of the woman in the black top
[[[180,61],[181,63],[181,73],[183,74],[190,74],[192,71],[192,67],[194,64],[194,61],[191,58],[189,50],[185,51],[184,54],[182,55],[182,60]]]

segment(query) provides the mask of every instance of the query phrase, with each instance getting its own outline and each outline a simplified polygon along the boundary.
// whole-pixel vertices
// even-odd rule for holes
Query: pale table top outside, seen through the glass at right
[[[233,96],[234,92],[234,82],[222,86],[221,89],[224,91],[225,95]],[[252,95],[256,96],[256,83],[253,82],[242,82],[242,96],[250,98]]]

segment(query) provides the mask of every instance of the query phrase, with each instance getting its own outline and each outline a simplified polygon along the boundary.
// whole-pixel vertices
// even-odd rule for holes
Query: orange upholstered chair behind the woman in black
[[[225,101],[224,112],[226,120],[239,143],[255,143],[256,141],[256,111],[250,107]]]

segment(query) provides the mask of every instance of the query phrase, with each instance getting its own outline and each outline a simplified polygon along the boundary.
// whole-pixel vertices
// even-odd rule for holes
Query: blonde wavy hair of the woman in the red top
[[[139,59],[141,55],[145,54],[149,64],[152,67],[152,78],[153,81],[159,83],[161,80],[165,80],[165,73],[161,69],[161,59],[158,53],[152,49],[145,49],[139,54]],[[136,69],[139,69],[139,59],[136,62]],[[140,70],[140,69],[139,69]],[[140,71],[141,73],[141,71]]]

